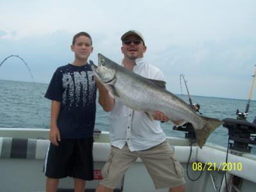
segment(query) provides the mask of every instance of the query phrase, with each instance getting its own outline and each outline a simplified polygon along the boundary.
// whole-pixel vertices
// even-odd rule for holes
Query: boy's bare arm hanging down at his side
[[[60,113],[61,102],[52,100],[51,101],[51,128],[49,132],[49,138],[53,145],[58,146],[58,141],[60,141],[60,131],[57,126],[58,114]]]

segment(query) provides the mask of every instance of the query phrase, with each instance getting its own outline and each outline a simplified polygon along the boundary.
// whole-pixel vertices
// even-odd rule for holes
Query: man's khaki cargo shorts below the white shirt
[[[107,163],[101,171],[103,180],[100,184],[114,189],[138,157],[145,164],[156,189],[174,188],[185,184],[184,170],[168,141],[147,150],[134,152],[131,152],[127,145],[122,149],[112,146]]]

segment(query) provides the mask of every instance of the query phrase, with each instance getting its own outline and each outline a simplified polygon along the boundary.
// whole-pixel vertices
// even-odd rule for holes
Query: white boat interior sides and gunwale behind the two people
[[[49,140],[47,140],[48,135],[49,130],[47,129],[0,128],[0,191],[45,191],[46,177],[42,170],[47,147],[49,146]],[[12,155],[8,156],[8,150],[10,150],[10,147],[12,148],[12,144],[8,147],[9,144],[6,144],[8,143],[6,141],[12,141],[13,138],[33,141],[36,145],[31,148],[34,148],[33,150],[35,151],[27,151],[26,158],[17,158],[13,156],[12,152]],[[189,141],[180,138],[168,138],[168,140],[174,147],[178,160],[184,170],[186,170],[190,154]],[[108,132],[94,133],[94,141],[94,170],[100,172],[110,153]],[[192,163],[194,162],[207,165],[209,163],[215,163],[215,168],[212,167],[210,170],[209,166],[205,166],[200,179],[196,181],[189,180],[186,175],[186,191],[219,191],[223,178],[222,169],[225,166],[225,150],[223,147],[210,144],[205,145],[202,149],[197,146],[192,147],[188,171],[189,177],[195,179],[200,175],[200,172],[192,170]],[[242,182],[238,186],[240,191],[255,191],[256,157],[250,154],[244,154],[243,157],[228,154],[228,162],[233,163],[233,165],[232,168],[227,170],[227,173],[242,179]],[[242,164],[241,170],[237,168],[237,164],[239,163]],[[196,167],[194,166],[194,168]],[[87,189],[94,190],[98,186],[98,183],[99,180],[88,181],[86,187]],[[59,188],[73,189],[73,179],[61,179]],[[226,191],[224,184],[222,188],[222,191]],[[140,159],[137,159],[136,163],[125,173],[121,183],[117,186],[117,191],[162,192],[168,190],[156,190],[144,164],[141,163]]]

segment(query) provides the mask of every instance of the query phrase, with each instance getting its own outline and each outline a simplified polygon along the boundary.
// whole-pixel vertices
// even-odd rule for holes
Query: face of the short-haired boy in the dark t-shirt
[[[93,47],[88,36],[78,36],[74,45],[71,45],[71,51],[78,60],[87,60],[92,52]]]

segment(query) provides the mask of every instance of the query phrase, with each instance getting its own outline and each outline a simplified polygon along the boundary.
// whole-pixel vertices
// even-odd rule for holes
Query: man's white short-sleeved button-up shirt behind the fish
[[[164,74],[143,58],[135,60],[133,72],[148,79],[164,81]],[[123,62],[122,62],[123,65]],[[125,143],[131,151],[146,150],[166,140],[159,121],[151,121],[145,113],[124,106],[115,99],[110,112],[110,144],[123,148]]]

